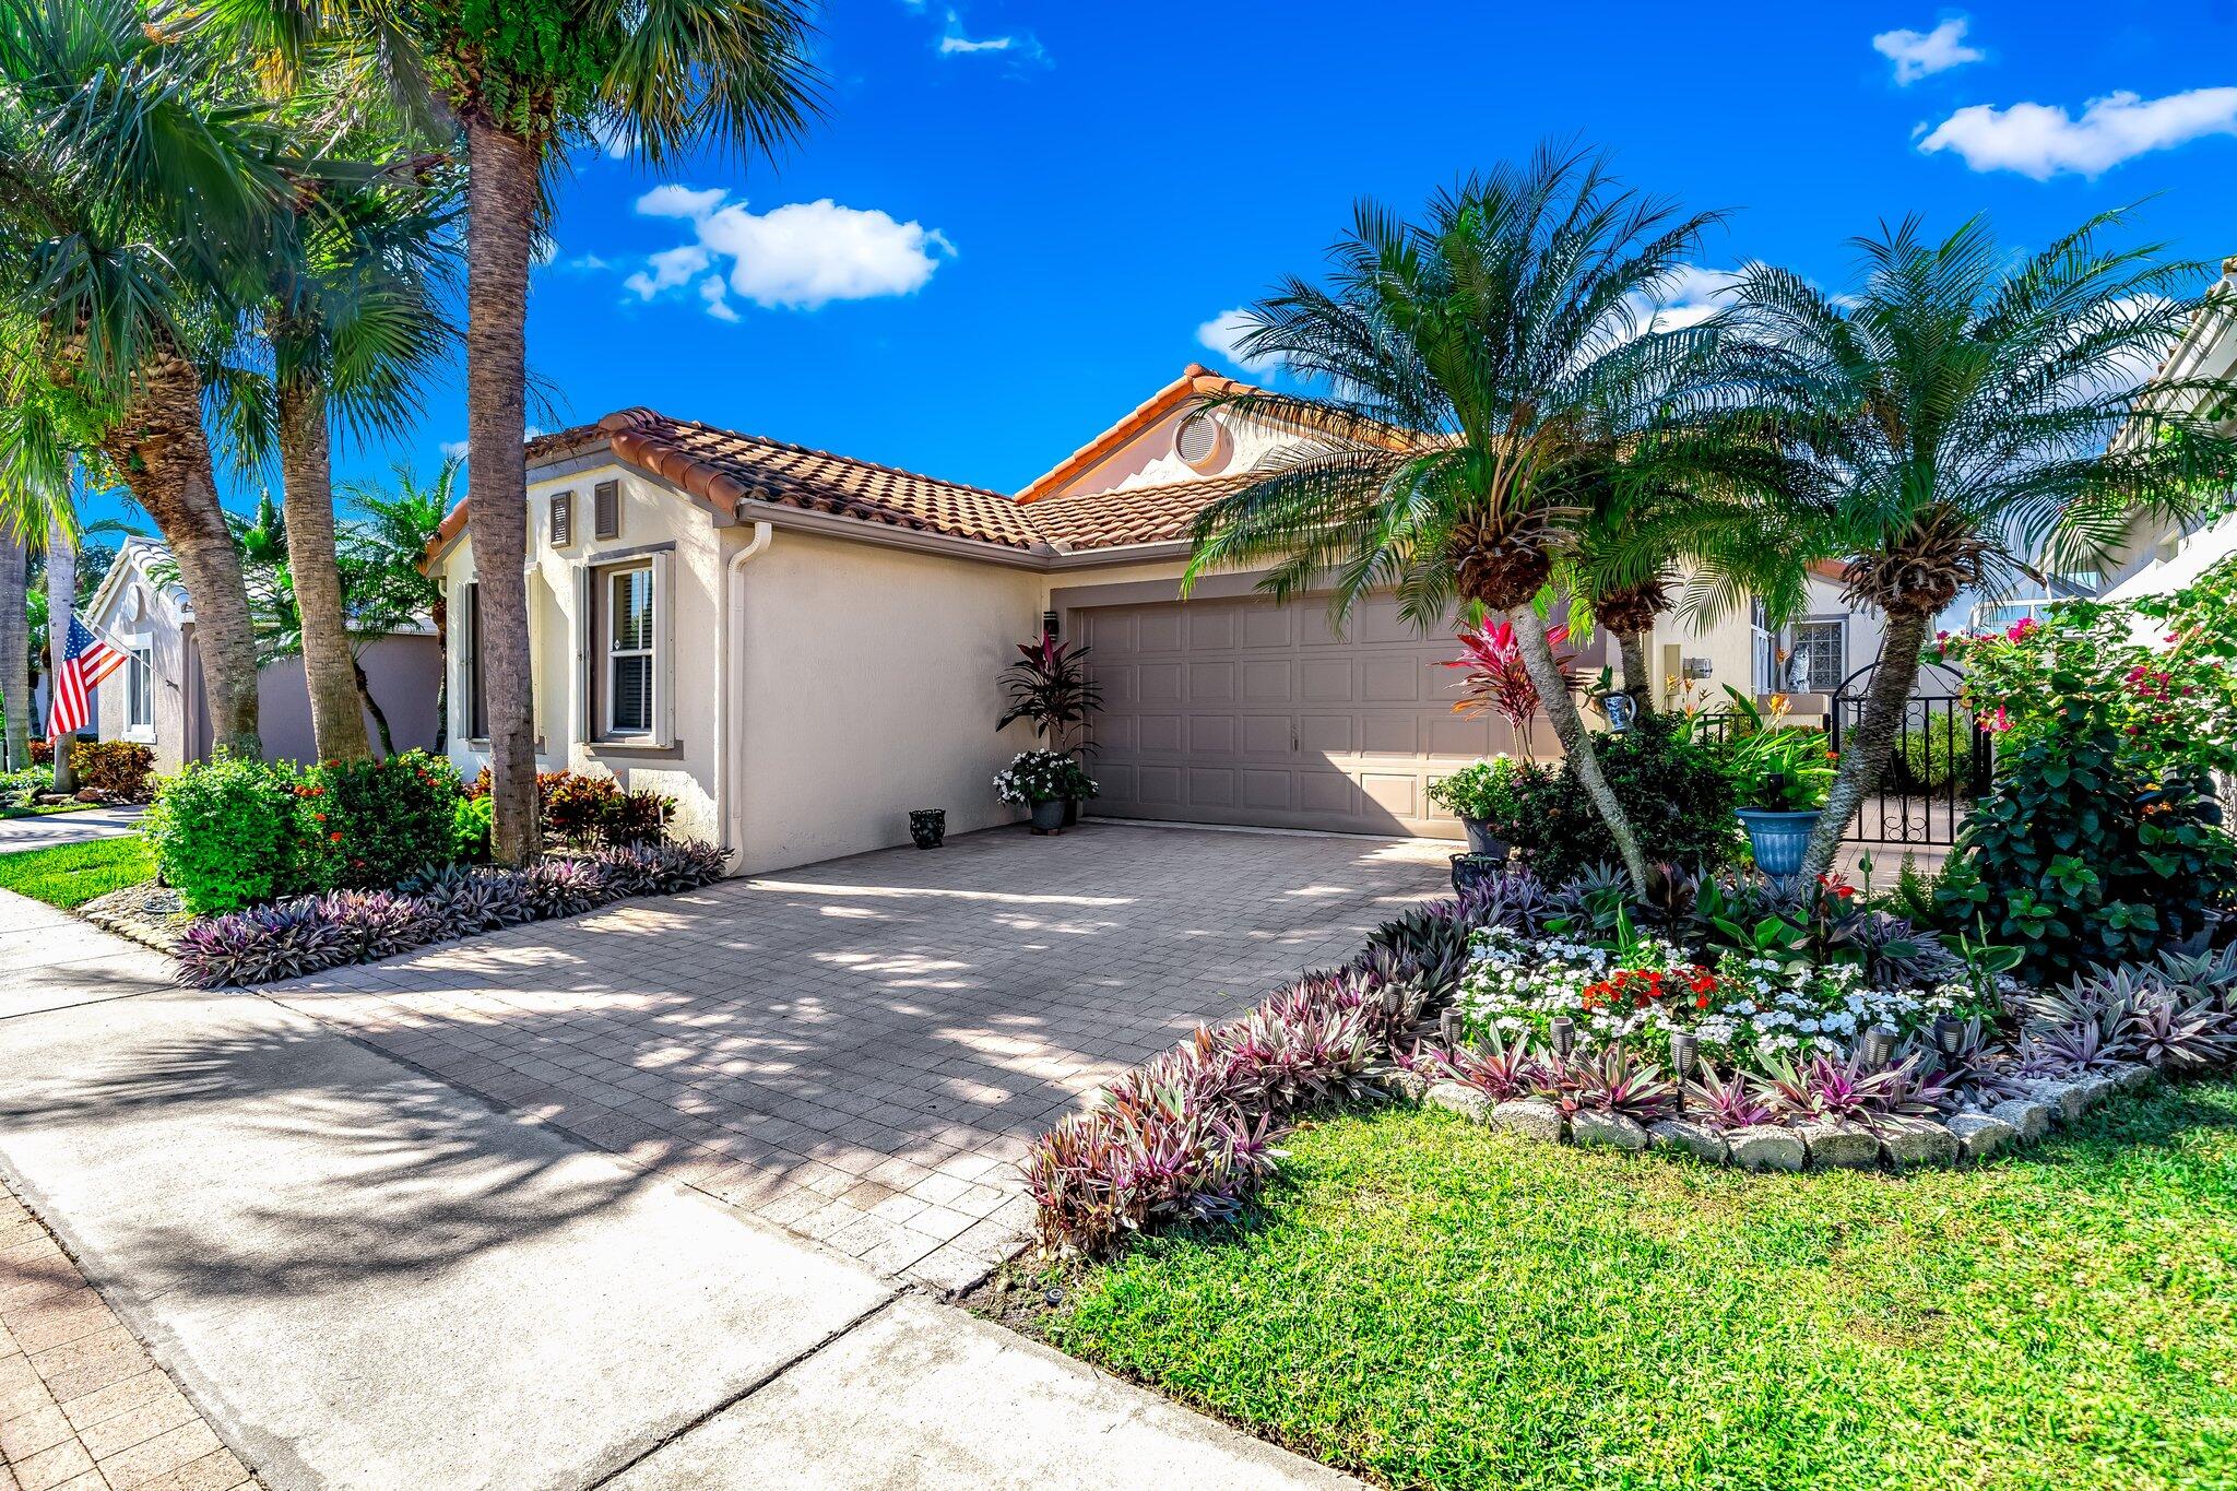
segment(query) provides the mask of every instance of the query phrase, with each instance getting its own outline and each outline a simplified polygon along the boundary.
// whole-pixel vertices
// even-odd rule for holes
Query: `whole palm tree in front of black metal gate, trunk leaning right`
[[[1778,534],[1794,572],[1846,561],[1846,599],[1888,626],[1803,874],[1832,865],[1879,785],[1919,648],[1960,592],[2087,563],[2136,512],[2190,516],[2237,472],[2237,443],[2190,414],[2237,387],[2150,376],[2210,275],[2161,244],[2109,246],[2125,219],[2020,257],[1982,219],[1939,244],[1906,219],[1854,239],[1843,297],[1763,266],[1736,286],[1734,387],[1799,476],[1731,543]]]

